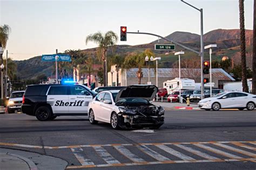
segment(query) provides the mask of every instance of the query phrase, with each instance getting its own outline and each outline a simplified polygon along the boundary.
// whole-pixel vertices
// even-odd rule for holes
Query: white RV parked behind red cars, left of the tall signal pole
[[[163,87],[167,89],[167,93],[171,94],[172,91],[179,90],[179,78],[175,78],[173,80],[167,80],[163,82]],[[180,79],[180,89],[186,90],[186,89],[194,89],[195,88],[195,82],[192,79]]]

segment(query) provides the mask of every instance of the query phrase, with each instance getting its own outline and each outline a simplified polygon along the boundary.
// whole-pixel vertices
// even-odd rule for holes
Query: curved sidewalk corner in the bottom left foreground
[[[68,162],[46,155],[0,148],[0,169],[65,169]]]

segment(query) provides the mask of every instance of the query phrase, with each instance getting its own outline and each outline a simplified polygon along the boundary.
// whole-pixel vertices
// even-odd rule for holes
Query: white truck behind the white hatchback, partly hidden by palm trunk
[[[252,90],[252,79],[247,79],[247,84],[249,88],[249,92]],[[236,82],[227,82],[224,83],[223,89],[225,91],[242,91],[242,82],[236,81]]]

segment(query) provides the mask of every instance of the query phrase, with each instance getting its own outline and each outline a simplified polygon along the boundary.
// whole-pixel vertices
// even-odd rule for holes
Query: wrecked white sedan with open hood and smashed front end
[[[89,121],[110,123],[113,129],[164,124],[164,108],[150,103],[157,94],[154,85],[132,85],[122,90],[102,91],[88,107]]]

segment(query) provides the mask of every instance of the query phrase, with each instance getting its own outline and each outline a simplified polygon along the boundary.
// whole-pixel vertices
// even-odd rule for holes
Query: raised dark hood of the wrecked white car
[[[152,101],[156,96],[158,88],[154,85],[131,85],[121,89],[117,96],[116,102],[129,97],[144,98],[147,101]]]

